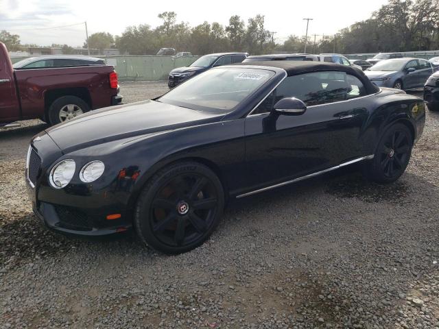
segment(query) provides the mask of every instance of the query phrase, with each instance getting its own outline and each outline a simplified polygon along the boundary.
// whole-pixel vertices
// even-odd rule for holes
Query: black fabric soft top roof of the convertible
[[[298,75],[302,73],[311,73],[311,72],[321,72],[321,71],[340,71],[346,72],[351,75],[355,75],[361,82],[364,87],[370,93],[377,93],[379,88],[372,84],[368,77],[361,71],[353,66],[342,65],[342,64],[334,64],[329,62],[315,62],[315,61],[305,61],[305,62],[296,62],[296,61],[281,61],[281,60],[270,60],[270,61],[257,61],[257,62],[248,62],[248,63],[237,63],[233,64],[233,66],[267,66],[268,68],[276,67],[278,69],[283,69],[287,72],[287,76]]]

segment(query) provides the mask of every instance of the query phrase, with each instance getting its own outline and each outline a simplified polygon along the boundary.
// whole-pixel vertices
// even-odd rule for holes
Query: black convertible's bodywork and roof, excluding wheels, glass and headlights
[[[422,99],[401,90],[380,90],[351,66],[276,61],[239,67],[275,74],[226,115],[145,101],[85,114],[36,136],[30,149],[41,159],[40,166],[29,165],[26,173],[36,177],[28,189],[38,217],[67,234],[121,232],[132,227],[142,188],[167,164],[201,162],[218,176],[227,197],[241,197],[370,158],[382,132],[395,122],[410,127],[415,141],[423,132]],[[287,75],[328,70],[354,75],[367,95],[309,106],[300,116],[252,114]],[[73,131],[78,140],[70,137]],[[49,174],[64,159],[75,160],[76,173],[65,188],[56,189]],[[104,175],[84,183],[78,171],[92,160],[104,162]],[[111,214],[120,218],[106,219]]]

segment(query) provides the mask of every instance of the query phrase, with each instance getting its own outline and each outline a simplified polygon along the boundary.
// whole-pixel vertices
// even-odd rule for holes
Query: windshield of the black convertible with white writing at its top
[[[213,69],[187,80],[157,100],[183,108],[226,114],[273,75],[274,71],[265,69]]]

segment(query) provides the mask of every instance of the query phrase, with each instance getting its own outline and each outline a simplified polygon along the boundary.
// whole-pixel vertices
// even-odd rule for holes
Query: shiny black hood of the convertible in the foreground
[[[220,121],[224,114],[141,101],[80,115],[46,130],[63,153],[122,138]]]

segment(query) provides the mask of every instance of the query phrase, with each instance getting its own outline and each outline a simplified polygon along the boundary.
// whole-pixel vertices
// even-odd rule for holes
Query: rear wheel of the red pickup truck
[[[78,115],[88,112],[90,106],[76,96],[62,96],[56,99],[49,108],[49,122],[57,125],[64,121],[69,121]]]

